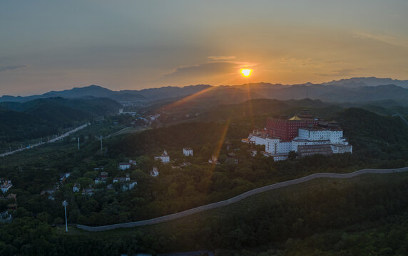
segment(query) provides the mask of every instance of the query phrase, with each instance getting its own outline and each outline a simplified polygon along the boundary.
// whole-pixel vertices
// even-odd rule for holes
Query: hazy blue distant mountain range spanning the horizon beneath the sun
[[[200,93],[198,94],[198,92]],[[306,82],[297,85],[282,85],[257,82],[245,85],[220,85],[217,87],[211,85],[190,85],[185,87],[160,87],[121,91],[113,91],[98,85],[90,85],[88,87],[75,87],[71,90],[51,91],[43,95],[28,97],[4,95],[0,97],[0,102],[28,102],[48,97],[64,97],[68,99],[106,97],[118,102],[155,102],[163,99],[180,99],[188,95],[195,95],[195,97],[188,97],[190,101],[203,102],[208,100],[209,102],[218,102],[219,104],[242,102],[251,98],[277,100],[310,98],[337,103],[380,100],[407,102],[408,80],[371,77],[333,80],[331,82],[323,82],[322,84]]]

